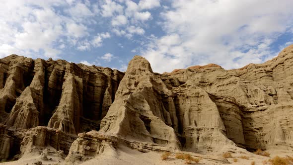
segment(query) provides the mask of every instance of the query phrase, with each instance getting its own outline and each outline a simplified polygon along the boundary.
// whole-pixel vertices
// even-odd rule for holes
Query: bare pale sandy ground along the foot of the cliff
[[[271,153],[273,153],[271,158],[276,155],[283,157],[286,155],[293,156],[293,153],[288,152],[271,151]],[[117,151],[105,150],[103,154],[80,165],[186,165],[184,160],[176,159],[175,154],[168,157],[167,160],[162,160],[161,155],[162,153],[142,153],[126,146],[119,146]],[[247,156],[248,160],[241,159],[241,156]],[[263,165],[263,161],[270,159],[270,157],[258,156],[252,153],[232,154],[232,158],[227,158],[227,163],[220,162],[224,160],[221,155],[218,155],[218,157],[205,155],[204,157],[207,158],[201,159],[198,164],[193,163],[191,165],[251,165],[251,162],[255,162],[255,165]],[[34,165],[37,161],[41,161],[42,165],[67,165],[59,156],[48,154],[47,158],[51,160],[44,160],[38,153],[35,153],[25,155],[18,161],[5,162],[0,165]],[[237,159],[237,162],[234,162],[234,159]]]

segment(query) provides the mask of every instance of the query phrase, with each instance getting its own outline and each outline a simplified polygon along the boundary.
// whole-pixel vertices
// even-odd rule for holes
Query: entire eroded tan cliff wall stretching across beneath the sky
[[[121,73],[11,55],[0,60],[0,113],[2,160],[50,147],[68,155],[68,164],[121,146],[292,152],[293,45],[264,64],[235,70],[209,64],[163,74],[153,73],[140,56]]]

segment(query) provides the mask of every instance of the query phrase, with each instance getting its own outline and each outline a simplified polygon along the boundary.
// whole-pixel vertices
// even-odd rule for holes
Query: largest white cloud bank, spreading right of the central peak
[[[282,1],[282,2],[281,2]],[[155,72],[216,63],[225,69],[263,62],[293,26],[291,0],[175,0],[161,13],[165,36],[141,53]]]

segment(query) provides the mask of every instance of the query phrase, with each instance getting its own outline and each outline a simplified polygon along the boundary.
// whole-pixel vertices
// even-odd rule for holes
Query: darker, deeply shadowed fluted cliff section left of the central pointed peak
[[[99,129],[123,76],[63,60],[0,59],[0,122],[10,129],[0,135],[0,159],[46,146],[67,154],[78,133]]]

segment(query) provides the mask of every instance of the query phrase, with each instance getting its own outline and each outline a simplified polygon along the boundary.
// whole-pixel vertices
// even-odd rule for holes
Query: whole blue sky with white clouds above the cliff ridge
[[[0,0],[0,58],[155,72],[269,60],[293,44],[293,0]]]

